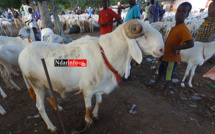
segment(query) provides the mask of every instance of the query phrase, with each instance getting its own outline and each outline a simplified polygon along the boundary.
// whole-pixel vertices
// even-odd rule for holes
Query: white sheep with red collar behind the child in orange
[[[182,62],[187,62],[187,68],[185,75],[182,79],[181,86],[185,87],[184,81],[186,77],[190,73],[190,79],[189,79],[189,87],[193,87],[192,85],[192,79],[195,74],[196,67],[199,65],[203,65],[204,62],[206,62],[209,58],[211,58],[215,54],[215,41],[210,43],[203,43],[203,42],[194,42],[194,47],[181,50],[181,60]]]

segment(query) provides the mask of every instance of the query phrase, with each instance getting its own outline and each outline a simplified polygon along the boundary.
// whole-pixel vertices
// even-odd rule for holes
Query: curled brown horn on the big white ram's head
[[[138,20],[133,19],[125,24],[124,31],[128,38],[135,39],[143,33],[143,27]]]

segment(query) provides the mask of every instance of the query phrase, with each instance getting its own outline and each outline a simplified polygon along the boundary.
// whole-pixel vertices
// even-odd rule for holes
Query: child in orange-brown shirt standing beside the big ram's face
[[[189,12],[192,9],[192,5],[189,2],[184,2],[179,5],[175,14],[176,25],[173,27],[165,42],[165,50],[162,58],[162,62],[159,67],[159,74],[154,84],[150,86],[158,88],[158,84],[164,76],[165,84],[161,91],[158,91],[158,95],[167,96],[169,92],[169,86],[172,82],[172,77],[177,65],[177,62],[181,62],[180,50],[188,49],[194,46],[193,37],[190,34],[189,29],[184,23],[185,18],[188,17]]]

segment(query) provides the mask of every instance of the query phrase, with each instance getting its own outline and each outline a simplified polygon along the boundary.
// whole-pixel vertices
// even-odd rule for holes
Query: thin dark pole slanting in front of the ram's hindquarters
[[[50,87],[50,90],[51,90],[51,93],[52,93],[52,96],[54,98],[54,103],[55,103],[55,106],[57,108],[57,115],[58,115],[58,118],[60,120],[60,124],[61,124],[61,127],[63,129],[63,134],[66,134],[66,130],[64,128],[64,125],[63,125],[63,120],[62,120],[62,117],[61,117],[61,114],[60,114],[60,111],[59,111],[59,108],[58,108],[58,105],[57,105],[57,101],[56,101],[56,98],[53,94],[53,88],[52,88],[52,84],[51,84],[51,80],[49,78],[49,73],[48,73],[48,70],[47,70],[47,67],[46,67],[46,62],[45,62],[45,59],[41,59],[42,60],[42,63],[43,63],[43,68],[45,70],[45,73],[46,73],[46,78],[48,80],[48,83],[49,83],[49,87]]]

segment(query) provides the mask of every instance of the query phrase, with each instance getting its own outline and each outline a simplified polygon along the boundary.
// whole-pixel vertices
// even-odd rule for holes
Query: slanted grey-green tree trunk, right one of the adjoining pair
[[[50,0],[49,4],[50,4],[51,10],[53,12],[53,16],[54,16],[54,20],[55,20],[55,28],[56,28],[57,32],[60,34],[60,36],[63,37],[65,43],[69,43],[69,40],[66,38],[64,31],[63,31],[63,28],[62,28],[62,25],[60,23],[60,19],[58,17],[58,13],[56,10],[56,6],[54,4],[54,0]]]

